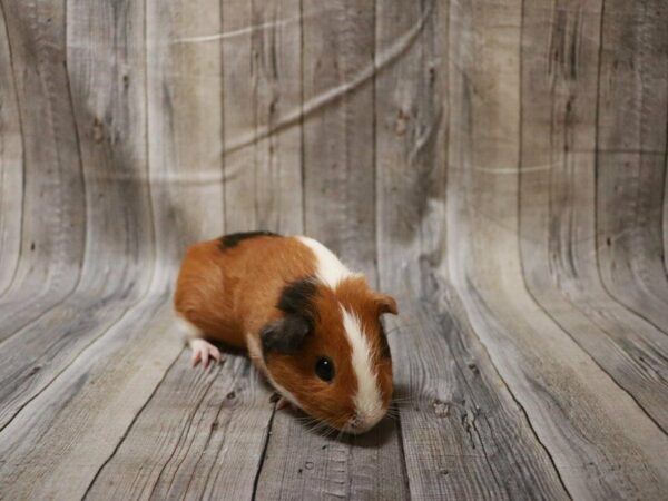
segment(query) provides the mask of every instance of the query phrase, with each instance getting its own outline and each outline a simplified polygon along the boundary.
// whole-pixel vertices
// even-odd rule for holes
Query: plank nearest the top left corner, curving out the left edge
[[[23,139],[23,194],[21,250],[0,298],[0,340],[73,291],[86,233],[78,132],[62,65],[65,3],[3,1],[2,10],[12,55],[3,72],[14,81]]]

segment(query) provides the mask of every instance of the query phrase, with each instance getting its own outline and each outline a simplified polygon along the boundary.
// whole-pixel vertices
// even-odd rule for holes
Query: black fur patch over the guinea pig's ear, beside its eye
[[[285,317],[269,322],[259,333],[265,356],[271,352],[293,355],[302,348],[304,340],[313,331],[315,293],[313,278],[293,282],[283,288],[276,307],[285,313]]]

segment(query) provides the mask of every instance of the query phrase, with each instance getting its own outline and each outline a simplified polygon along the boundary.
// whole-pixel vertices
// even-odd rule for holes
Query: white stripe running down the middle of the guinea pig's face
[[[376,424],[385,414],[383,400],[376,375],[371,365],[371,346],[362,333],[362,325],[356,315],[341,306],[343,327],[353,350],[353,370],[357,377],[357,393],[353,402],[358,415],[358,428],[367,430]]]

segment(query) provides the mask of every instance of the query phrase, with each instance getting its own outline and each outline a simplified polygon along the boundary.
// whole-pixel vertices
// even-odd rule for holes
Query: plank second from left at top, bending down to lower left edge
[[[153,276],[146,266],[154,250],[150,198],[141,181],[147,174],[143,6],[108,7],[70,2],[67,9],[67,85],[86,165],[81,276],[70,297],[2,343],[0,377],[7,383],[0,390],[0,426],[136,305]],[[127,46],[117,47],[116,39]]]

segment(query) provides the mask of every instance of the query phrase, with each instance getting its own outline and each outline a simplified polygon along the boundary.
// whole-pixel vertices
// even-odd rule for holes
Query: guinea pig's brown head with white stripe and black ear
[[[316,278],[288,284],[276,307],[283,316],[261,332],[276,390],[338,430],[374,426],[392,400],[392,358],[380,317],[396,314],[395,301],[356,275],[334,288]]]

